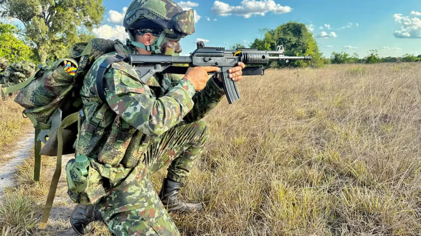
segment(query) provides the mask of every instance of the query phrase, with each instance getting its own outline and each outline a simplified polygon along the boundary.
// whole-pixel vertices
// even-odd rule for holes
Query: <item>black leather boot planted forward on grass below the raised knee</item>
[[[159,192],[159,197],[168,212],[177,211],[185,213],[192,210],[199,211],[202,208],[200,204],[186,203],[178,199],[177,194],[183,185],[183,183],[164,178],[161,191]]]

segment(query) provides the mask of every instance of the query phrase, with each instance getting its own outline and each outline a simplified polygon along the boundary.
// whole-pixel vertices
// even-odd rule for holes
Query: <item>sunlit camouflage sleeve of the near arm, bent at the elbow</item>
[[[109,107],[139,131],[159,136],[182,121],[193,108],[195,88],[182,79],[165,96],[156,98],[149,86],[139,82],[133,67],[113,63],[105,75],[109,81],[105,95]]]

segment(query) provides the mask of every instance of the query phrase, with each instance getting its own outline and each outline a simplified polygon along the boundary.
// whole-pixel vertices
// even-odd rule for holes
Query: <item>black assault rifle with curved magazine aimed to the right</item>
[[[220,71],[217,73],[221,73],[221,79],[224,84],[224,90],[229,104],[232,104],[240,98],[237,83],[232,81],[232,79],[228,76],[229,68],[237,66],[237,63],[243,62],[245,65],[267,65],[269,60],[272,60],[272,63],[277,60],[285,60],[288,63],[289,60],[311,59],[311,56],[285,56],[283,46],[278,46],[277,51],[259,51],[256,48],[225,50],[224,47],[205,47],[205,43],[202,41],[197,42],[197,49],[190,53],[189,56],[128,55],[128,63],[134,66],[136,73],[139,75],[143,83],[146,83],[146,81],[155,73],[186,73],[188,68],[187,66],[174,66],[174,64],[189,64],[189,66],[217,66],[220,68]],[[272,63],[266,68],[263,66],[246,67],[242,70],[242,75],[263,76],[264,70],[272,66]],[[101,87],[102,85],[99,86],[99,88]]]

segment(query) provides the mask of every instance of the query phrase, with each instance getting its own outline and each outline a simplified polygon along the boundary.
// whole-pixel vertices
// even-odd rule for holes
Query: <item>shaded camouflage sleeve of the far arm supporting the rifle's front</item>
[[[206,83],[206,87],[203,90],[196,92],[192,97],[195,105],[184,117],[184,120],[194,122],[202,119],[218,105],[224,95],[224,88],[219,87],[212,76]]]

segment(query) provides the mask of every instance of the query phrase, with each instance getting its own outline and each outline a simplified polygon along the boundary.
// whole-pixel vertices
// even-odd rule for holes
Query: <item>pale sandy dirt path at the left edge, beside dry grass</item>
[[[23,160],[31,155],[34,146],[35,131],[29,131],[27,136],[16,144],[16,150],[11,154],[6,154],[5,159],[11,159],[8,163],[0,165],[0,196],[3,195],[5,187],[14,183],[13,174],[17,165],[22,165]],[[12,159],[13,158],[13,159]]]

